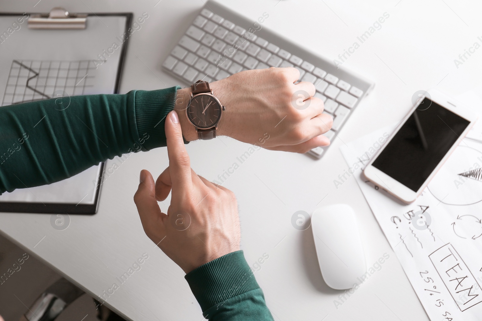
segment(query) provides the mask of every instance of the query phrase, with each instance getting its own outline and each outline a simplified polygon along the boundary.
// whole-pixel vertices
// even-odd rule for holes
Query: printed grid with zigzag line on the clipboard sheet
[[[1,105],[86,94],[95,70],[91,60],[13,60]]]

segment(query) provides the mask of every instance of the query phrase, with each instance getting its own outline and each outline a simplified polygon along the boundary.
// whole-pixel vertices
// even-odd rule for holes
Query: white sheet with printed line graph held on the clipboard
[[[0,30],[15,19],[1,16]],[[71,96],[114,93],[123,44],[115,50],[112,44],[124,34],[126,17],[91,15],[86,26],[83,30],[33,30],[25,21],[1,42],[1,106],[62,98],[63,104],[57,104],[62,110],[68,108]],[[35,129],[26,128],[26,134],[34,135]],[[67,180],[3,193],[0,202],[94,204],[99,174],[100,166],[94,166]]]

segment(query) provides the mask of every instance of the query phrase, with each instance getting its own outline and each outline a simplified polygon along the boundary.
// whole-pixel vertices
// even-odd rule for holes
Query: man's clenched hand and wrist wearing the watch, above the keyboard
[[[242,71],[210,83],[214,95],[226,106],[217,135],[296,153],[329,145],[330,141],[321,134],[331,128],[333,118],[322,114],[323,102],[313,97],[312,83],[294,84],[299,75],[293,67],[271,67]],[[178,93],[181,99],[176,102],[176,110],[181,115],[184,137],[187,141],[196,140],[198,136],[184,111],[190,88]]]

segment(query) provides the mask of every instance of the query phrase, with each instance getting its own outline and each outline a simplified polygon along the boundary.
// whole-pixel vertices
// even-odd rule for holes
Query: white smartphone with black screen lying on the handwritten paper
[[[421,94],[363,174],[412,203],[477,120],[467,106],[439,90]]]

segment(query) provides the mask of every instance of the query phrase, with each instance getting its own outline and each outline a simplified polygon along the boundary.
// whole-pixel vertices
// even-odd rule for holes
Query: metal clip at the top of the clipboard
[[[69,14],[55,7],[49,14],[34,14],[28,18],[29,29],[85,29],[87,14]]]

